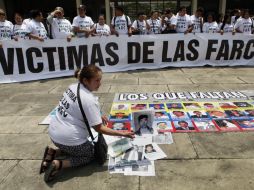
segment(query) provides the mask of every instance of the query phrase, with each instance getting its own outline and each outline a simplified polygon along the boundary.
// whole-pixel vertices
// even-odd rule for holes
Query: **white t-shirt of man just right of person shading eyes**
[[[84,29],[90,30],[93,25],[94,25],[94,22],[89,16],[85,16],[85,17],[76,16],[73,19],[73,23],[72,23],[73,27],[78,27],[80,30],[84,30]],[[77,37],[79,38],[85,37],[85,33],[77,32]]]

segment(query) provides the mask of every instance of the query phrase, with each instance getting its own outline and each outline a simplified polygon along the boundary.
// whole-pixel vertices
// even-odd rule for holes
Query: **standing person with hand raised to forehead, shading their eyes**
[[[64,9],[62,7],[56,7],[49,14],[47,22],[50,25],[53,39],[67,39],[68,42],[71,41],[72,26],[70,21],[64,18]]]

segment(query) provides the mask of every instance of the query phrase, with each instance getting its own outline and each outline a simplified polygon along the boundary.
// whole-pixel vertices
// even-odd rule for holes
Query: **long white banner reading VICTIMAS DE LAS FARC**
[[[164,67],[254,65],[254,36],[163,34],[65,40],[4,41],[0,83],[73,75],[96,64],[104,72]]]

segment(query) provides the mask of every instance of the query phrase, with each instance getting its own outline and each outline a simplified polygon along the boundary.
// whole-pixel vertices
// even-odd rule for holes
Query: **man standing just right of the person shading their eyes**
[[[80,5],[78,8],[79,15],[73,19],[73,31],[78,38],[89,37],[91,29],[94,25],[91,17],[86,16],[86,6]]]

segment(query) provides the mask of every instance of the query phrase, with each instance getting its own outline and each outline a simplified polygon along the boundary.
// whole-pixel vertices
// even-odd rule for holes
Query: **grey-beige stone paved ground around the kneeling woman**
[[[254,68],[183,68],[105,74],[97,93],[108,113],[114,93],[254,90]],[[173,134],[161,146],[156,177],[110,175],[91,164],[67,170],[45,184],[38,174],[46,126],[38,123],[55,107],[73,78],[0,85],[0,189],[253,190],[254,132]]]

